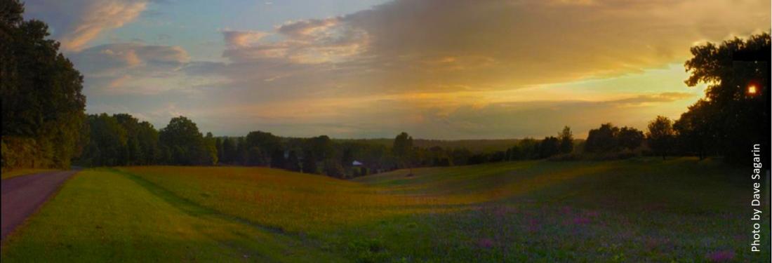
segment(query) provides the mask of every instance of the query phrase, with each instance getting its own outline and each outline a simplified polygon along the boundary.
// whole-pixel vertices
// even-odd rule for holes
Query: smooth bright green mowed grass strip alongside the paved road
[[[341,261],[110,170],[83,170],[9,237],[3,262]]]

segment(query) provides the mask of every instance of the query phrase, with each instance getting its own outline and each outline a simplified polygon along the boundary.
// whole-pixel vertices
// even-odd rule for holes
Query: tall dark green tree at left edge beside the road
[[[24,6],[0,2],[0,99],[2,99],[2,166],[26,164],[18,149],[29,149],[35,166],[69,167],[87,140],[81,136],[86,96],[83,76],[46,39],[48,25],[24,21]]]

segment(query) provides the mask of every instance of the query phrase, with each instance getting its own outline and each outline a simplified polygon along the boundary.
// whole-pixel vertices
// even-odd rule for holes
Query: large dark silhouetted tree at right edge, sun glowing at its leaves
[[[707,89],[705,99],[689,108],[689,120],[679,123],[681,141],[702,155],[709,140],[735,164],[750,160],[747,150],[753,143],[770,149],[770,34],[706,43],[691,52],[692,59],[684,64],[690,73],[685,82],[705,83]]]

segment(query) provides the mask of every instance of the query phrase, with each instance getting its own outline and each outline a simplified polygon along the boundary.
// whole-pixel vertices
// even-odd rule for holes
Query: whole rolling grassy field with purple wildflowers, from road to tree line
[[[2,260],[769,261],[747,247],[747,172],[710,160],[413,173],[85,170],[12,235]]]

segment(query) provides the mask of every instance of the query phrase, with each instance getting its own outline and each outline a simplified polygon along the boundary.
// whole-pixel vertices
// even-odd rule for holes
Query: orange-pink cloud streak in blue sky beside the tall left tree
[[[32,0],[25,2],[26,16],[54,27],[53,37],[66,50],[86,47],[100,33],[133,21],[147,7],[146,0]]]

